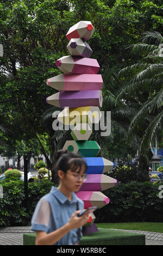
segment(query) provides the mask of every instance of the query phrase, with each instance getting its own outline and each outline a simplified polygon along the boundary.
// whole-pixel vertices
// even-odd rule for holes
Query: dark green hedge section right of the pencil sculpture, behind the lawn
[[[147,181],[130,182],[103,191],[110,203],[96,210],[95,222],[163,222],[159,186]]]

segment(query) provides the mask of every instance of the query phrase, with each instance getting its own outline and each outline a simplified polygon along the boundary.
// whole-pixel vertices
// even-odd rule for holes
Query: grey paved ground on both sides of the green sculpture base
[[[146,245],[163,245],[163,233],[124,229],[112,230],[122,230],[126,232],[145,234]],[[34,233],[34,231],[30,230],[30,227],[1,227],[0,245],[23,245],[24,233]]]

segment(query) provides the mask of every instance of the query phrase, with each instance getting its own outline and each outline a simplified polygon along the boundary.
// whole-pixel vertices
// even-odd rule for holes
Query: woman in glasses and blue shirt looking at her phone
[[[67,150],[57,151],[55,159],[52,180],[57,173],[59,186],[52,187],[37,203],[31,229],[36,231],[36,245],[77,245],[81,227],[90,217],[78,217],[84,203],[75,194],[86,179],[87,166],[82,157]]]

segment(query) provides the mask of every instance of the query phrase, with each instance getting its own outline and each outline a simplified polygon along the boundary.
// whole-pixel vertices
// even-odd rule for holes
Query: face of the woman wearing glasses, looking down
[[[78,192],[83,184],[85,175],[84,167],[81,169],[78,168],[75,172],[72,172],[72,170],[69,169],[62,175],[62,185],[64,185],[68,191]]]

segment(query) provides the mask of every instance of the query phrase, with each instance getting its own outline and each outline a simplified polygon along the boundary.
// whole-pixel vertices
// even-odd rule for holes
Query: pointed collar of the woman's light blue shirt
[[[74,192],[72,192],[71,201],[69,201],[68,198],[65,197],[65,195],[57,189],[57,187],[52,187],[51,193],[53,194],[54,197],[56,197],[59,200],[61,204],[64,204],[66,201],[70,204],[77,203],[77,196]]]

